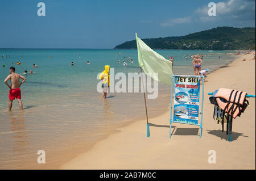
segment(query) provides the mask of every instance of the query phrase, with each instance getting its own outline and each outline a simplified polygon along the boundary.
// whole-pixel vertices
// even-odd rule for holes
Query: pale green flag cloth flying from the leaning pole
[[[172,62],[154,52],[154,50],[137,37],[137,33],[135,35],[137,40],[139,66],[141,66],[144,73],[155,81],[171,85]],[[154,73],[158,73],[158,75]]]

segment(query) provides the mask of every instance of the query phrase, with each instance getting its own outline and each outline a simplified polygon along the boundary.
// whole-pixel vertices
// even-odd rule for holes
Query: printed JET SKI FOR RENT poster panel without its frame
[[[175,77],[174,121],[198,124],[200,77]]]

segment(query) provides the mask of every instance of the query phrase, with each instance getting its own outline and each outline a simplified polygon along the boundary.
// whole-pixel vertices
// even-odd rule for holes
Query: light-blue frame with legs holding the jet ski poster
[[[189,124],[189,125],[197,125],[197,126],[200,126],[200,136],[199,138],[201,138],[201,134],[202,134],[202,125],[203,125],[203,108],[204,108],[204,76],[203,75],[172,75],[171,79],[171,115],[170,115],[170,138],[171,138],[171,124],[172,123],[181,123],[181,122],[178,122],[178,121],[174,121],[173,120],[173,117],[172,117],[172,99],[173,99],[173,96],[172,96],[172,93],[173,93],[173,89],[174,89],[174,86],[173,86],[173,83],[174,83],[174,77],[193,77],[193,78],[203,78],[203,89],[202,89],[202,100],[201,100],[201,120],[200,120],[200,124]],[[200,90],[199,90],[200,92]],[[200,96],[199,96],[199,105],[200,105]],[[181,124],[188,124],[188,123],[181,123]]]

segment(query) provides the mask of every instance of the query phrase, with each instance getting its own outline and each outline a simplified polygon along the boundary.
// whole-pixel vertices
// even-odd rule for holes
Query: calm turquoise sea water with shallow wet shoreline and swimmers
[[[185,75],[193,75],[192,59],[185,61],[185,55],[205,54],[203,69],[210,71],[236,58],[222,51],[156,52],[166,58],[174,57],[174,73]],[[0,56],[2,54],[10,58],[0,58],[0,169],[36,164],[38,150],[64,149],[77,142],[94,141],[127,120],[144,118],[141,93],[110,93],[109,98],[102,101],[96,90],[97,74],[105,65],[114,68],[115,73],[139,73],[137,50],[0,49]],[[126,59],[123,57],[131,57],[134,63],[118,64],[118,60]],[[22,64],[16,65],[17,61]],[[71,66],[72,61],[74,66]],[[21,87],[22,113],[16,101],[13,111],[7,111],[9,89],[3,80],[9,74],[11,62],[14,62],[16,73],[35,72],[26,75],[27,81]],[[38,68],[32,68],[33,64]],[[148,100],[149,116],[163,112],[170,102],[170,87],[160,83],[159,88],[158,98]],[[47,158],[53,156],[56,155]]]

